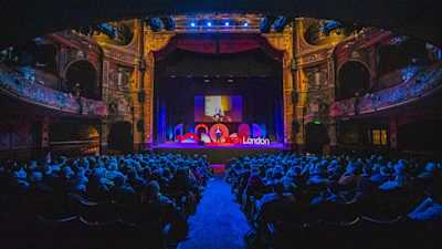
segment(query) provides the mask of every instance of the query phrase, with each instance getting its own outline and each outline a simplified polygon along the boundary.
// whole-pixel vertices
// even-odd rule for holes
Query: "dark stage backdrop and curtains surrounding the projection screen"
[[[194,127],[196,95],[240,95],[243,123],[265,124],[271,138],[282,137],[278,134],[282,133],[278,127],[283,122],[282,112],[275,112],[282,108],[282,64],[260,50],[239,54],[178,51],[158,62],[155,81],[157,141],[165,138],[161,129],[177,124],[185,124],[185,132]],[[228,127],[233,133],[239,125],[232,123]]]

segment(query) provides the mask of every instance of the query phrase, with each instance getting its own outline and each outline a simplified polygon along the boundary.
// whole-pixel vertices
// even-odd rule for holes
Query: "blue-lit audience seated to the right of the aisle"
[[[225,178],[261,241],[269,236],[261,234],[269,222],[263,219],[274,212],[278,212],[278,226],[298,222],[308,227],[322,220],[341,224],[358,217],[380,224],[394,217],[410,222],[442,221],[441,172],[434,162],[421,165],[376,155],[280,153],[234,158]],[[294,212],[296,220],[288,221]]]

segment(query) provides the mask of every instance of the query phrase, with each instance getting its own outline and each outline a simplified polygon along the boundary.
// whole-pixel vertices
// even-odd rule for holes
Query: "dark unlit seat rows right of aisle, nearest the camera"
[[[345,207],[339,211],[345,212]],[[311,220],[303,221],[299,216],[305,212],[297,212],[296,218],[281,210],[265,212],[285,215],[261,217],[254,224],[256,234],[250,248],[436,249],[442,245],[440,221],[417,222],[403,216],[390,219],[355,216],[341,220],[336,217],[313,220],[311,216]]]

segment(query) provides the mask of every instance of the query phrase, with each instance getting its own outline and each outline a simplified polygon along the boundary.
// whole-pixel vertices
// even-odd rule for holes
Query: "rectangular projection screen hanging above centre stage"
[[[242,122],[242,96],[194,96],[194,122]]]

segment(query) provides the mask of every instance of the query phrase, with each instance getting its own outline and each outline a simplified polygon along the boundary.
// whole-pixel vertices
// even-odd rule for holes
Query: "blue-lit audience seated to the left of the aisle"
[[[0,178],[2,221],[24,226],[29,220],[23,215],[54,217],[55,209],[78,216],[86,210],[82,219],[87,221],[94,208],[103,207],[95,215],[104,217],[104,225],[158,220],[181,240],[187,236],[188,210],[194,209],[211,170],[199,155],[129,154],[0,163]],[[80,209],[72,205],[77,200]],[[116,217],[108,215],[114,210]],[[1,229],[8,229],[8,222],[3,225]]]

